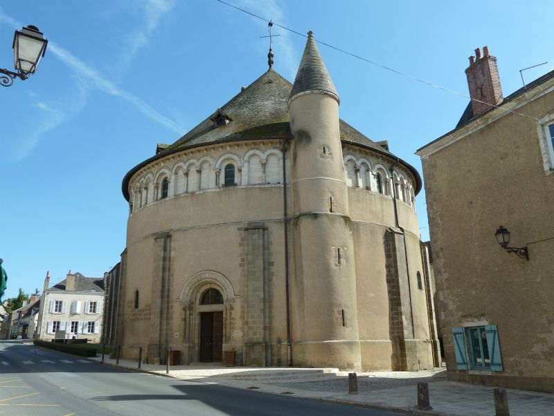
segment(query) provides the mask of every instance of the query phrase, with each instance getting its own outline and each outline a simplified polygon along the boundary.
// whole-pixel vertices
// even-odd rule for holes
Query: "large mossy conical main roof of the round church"
[[[323,66],[324,68],[324,66]],[[325,69],[325,72],[327,70]],[[298,78],[298,76],[297,76]],[[307,77],[298,84],[298,91],[313,86]],[[330,89],[329,85],[323,85],[323,80],[318,81],[321,88]],[[332,82],[330,82],[332,86]],[[263,73],[248,87],[231,98],[222,107],[215,110],[204,121],[190,130],[186,135],[175,141],[170,146],[157,148],[157,155],[146,159],[134,166],[123,178],[122,191],[125,199],[129,200],[128,184],[132,175],[154,160],[160,159],[172,153],[177,153],[188,148],[205,146],[206,144],[226,143],[229,141],[260,140],[260,139],[294,139],[290,131],[288,99],[293,85],[274,69]],[[334,86],[332,86],[334,90]],[[328,91],[331,93],[330,91]],[[338,96],[337,96],[338,98]],[[229,119],[229,123],[217,125],[215,116],[222,114]],[[339,120],[341,140],[346,144],[354,144],[393,159],[398,159],[387,147],[377,144],[361,134],[358,130],[343,120]],[[421,179],[418,172],[410,164],[399,159],[400,163],[411,171],[417,184],[417,192],[421,189]]]

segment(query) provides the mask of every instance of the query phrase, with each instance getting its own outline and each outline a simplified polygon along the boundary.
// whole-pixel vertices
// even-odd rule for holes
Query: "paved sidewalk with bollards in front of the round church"
[[[100,359],[91,358],[97,362]],[[116,366],[116,360],[106,356],[105,364]],[[120,360],[118,367],[136,370],[137,362]],[[166,375],[165,365],[143,364],[141,370]],[[348,395],[348,374],[337,369],[172,365],[169,376],[415,415],[494,416],[495,413],[492,387],[449,382],[444,369],[359,373],[358,395]],[[417,404],[418,382],[429,383],[433,410],[413,410]],[[554,395],[510,389],[507,392],[511,416],[554,416]]]

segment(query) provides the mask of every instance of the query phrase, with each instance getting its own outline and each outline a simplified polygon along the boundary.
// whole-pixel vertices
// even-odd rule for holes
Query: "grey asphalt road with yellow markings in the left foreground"
[[[0,341],[0,415],[400,414],[129,372],[32,344]]]

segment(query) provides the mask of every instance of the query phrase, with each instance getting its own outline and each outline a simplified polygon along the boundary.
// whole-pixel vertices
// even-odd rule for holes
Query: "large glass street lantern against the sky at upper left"
[[[33,75],[40,58],[46,52],[46,44],[48,44],[48,40],[44,39],[37,26],[29,25],[21,28],[21,31],[15,31],[12,48],[14,67],[17,72],[0,68],[0,73],[4,74],[0,75],[0,85],[9,87],[13,84],[15,77],[26,80]]]

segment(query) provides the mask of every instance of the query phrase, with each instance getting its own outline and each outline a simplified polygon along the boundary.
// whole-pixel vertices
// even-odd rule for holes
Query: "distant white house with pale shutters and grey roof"
[[[41,340],[53,338],[87,338],[100,342],[104,281],[68,273],[66,279],[48,288],[50,272],[46,273],[40,300],[39,323],[35,336]]]

